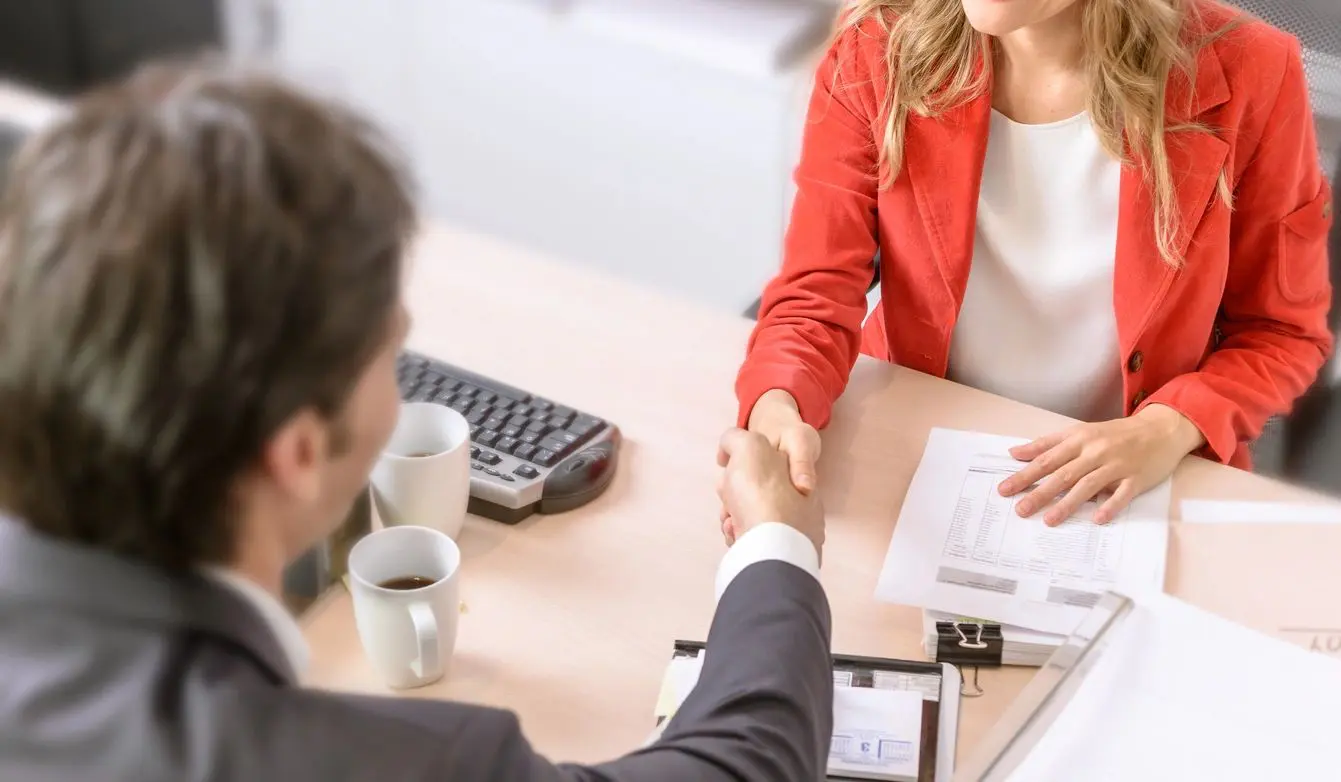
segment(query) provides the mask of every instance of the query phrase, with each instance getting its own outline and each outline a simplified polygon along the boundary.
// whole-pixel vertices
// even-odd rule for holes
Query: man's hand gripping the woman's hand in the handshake
[[[819,498],[793,486],[787,456],[766,437],[731,429],[721,436],[717,464],[725,468],[717,496],[728,546],[759,524],[780,522],[810,538],[817,551],[823,550],[825,511]]]

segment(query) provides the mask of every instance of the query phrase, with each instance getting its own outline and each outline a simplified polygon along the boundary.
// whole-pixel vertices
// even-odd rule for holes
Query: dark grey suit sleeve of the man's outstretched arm
[[[656,743],[599,766],[554,766],[510,724],[485,775],[516,782],[814,782],[833,735],[830,616],[805,570],[764,561],[721,596],[699,684]],[[648,706],[650,730],[650,704]],[[477,752],[472,752],[476,754]],[[476,769],[479,769],[476,766]],[[453,771],[461,769],[453,767]],[[444,779],[465,779],[447,775]]]

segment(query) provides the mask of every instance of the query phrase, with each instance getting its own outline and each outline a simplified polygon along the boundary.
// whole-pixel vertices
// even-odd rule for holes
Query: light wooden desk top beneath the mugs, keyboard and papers
[[[452,669],[409,695],[512,708],[555,759],[622,754],[652,727],[670,643],[703,638],[712,616],[723,553],[713,456],[735,418],[732,382],[751,323],[441,227],[425,232],[410,274],[412,347],[606,416],[626,443],[610,490],[585,508],[516,527],[468,520],[468,610]],[[862,359],[821,464],[834,651],[923,657],[920,612],[872,596],[932,425],[1033,436],[1065,423]],[[1175,495],[1309,496],[1200,459],[1180,468]],[[318,602],[304,628],[312,685],[385,691],[343,590]],[[1033,673],[982,673],[986,695],[964,700],[960,757]]]

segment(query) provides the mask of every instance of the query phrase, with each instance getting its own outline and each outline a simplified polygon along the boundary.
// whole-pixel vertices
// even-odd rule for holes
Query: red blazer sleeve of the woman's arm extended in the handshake
[[[740,427],[771,389],[826,425],[857,361],[876,258],[880,107],[864,51],[873,40],[868,25],[849,28],[815,74],[782,271],[764,288],[736,378]]]

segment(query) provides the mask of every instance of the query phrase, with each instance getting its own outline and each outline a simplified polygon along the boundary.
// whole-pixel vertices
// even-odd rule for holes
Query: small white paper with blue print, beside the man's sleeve
[[[835,687],[829,774],[917,779],[921,706],[911,689]]]

